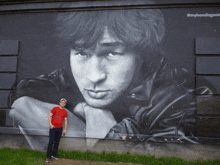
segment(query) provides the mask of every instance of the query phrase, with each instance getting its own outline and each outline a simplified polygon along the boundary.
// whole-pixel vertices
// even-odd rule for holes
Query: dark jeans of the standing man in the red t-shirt
[[[50,140],[47,148],[47,157],[52,155],[57,155],[57,150],[59,147],[60,138],[62,135],[63,127],[50,129]],[[53,152],[52,152],[53,148]]]

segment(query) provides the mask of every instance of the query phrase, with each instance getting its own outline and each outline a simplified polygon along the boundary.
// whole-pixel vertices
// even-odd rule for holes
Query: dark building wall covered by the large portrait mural
[[[46,149],[48,114],[64,97],[64,149],[68,139],[91,150],[218,145],[219,3],[205,2],[2,5],[2,137]]]

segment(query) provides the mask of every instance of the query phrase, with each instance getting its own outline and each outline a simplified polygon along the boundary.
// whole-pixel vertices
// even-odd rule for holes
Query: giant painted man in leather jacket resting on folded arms
[[[67,136],[195,142],[187,137],[196,122],[193,90],[187,70],[163,58],[160,10],[66,12],[56,21],[70,63],[18,84],[10,115],[19,127],[48,129],[48,112],[65,97]]]

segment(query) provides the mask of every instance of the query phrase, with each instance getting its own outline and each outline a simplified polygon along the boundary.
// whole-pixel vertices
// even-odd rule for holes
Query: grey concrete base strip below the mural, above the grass
[[[29,142],[28,142],[29,141]],[[49,142],[48,136],[24,136],[0,134],[0,148],[9,147],[46,151]],[[97,140],[85,138],[62,137],[60,149],[66,151],[92,151],[101,153],[105,151],[139,155],[154,155],[159,157],[179,157],[187,161],[200,159],[202,161],[220,159],[219,145],[204,144],[177,144],[177,143],[154,143],[154,142],[132,142],[122,140]],[[46,155],[45,155],[46,157]]]

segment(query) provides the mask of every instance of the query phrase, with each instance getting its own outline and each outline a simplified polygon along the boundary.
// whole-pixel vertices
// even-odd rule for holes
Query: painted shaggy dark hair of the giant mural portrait
[[[151,1],[143,1],[152,4]],[[106,2],[107,3],[107,2]],[[122,1],[126,5],[128,1]],[[140,54],[144,61],[157,59],[165,34],[164,18],[159,9],[120,9],[64,12],[57,16],[58,35],[71,47],[88,48],[102,37],[104,28]],[[155,53],[156,51],[156,53]],[[149,57],[153,55],[153,57]],[[146,64],[145,62],[145,64]],[[149,62],[146,64],[149,69]]]

